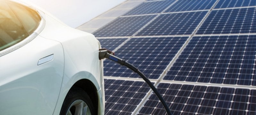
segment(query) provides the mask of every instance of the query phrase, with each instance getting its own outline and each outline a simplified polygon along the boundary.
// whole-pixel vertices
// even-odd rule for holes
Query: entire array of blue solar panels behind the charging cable
[[[255,12],[255,0],[146,0],[93,34],[173,114],[256,115]],[[166,114],[131,70],[105,60],[104,77],[105,114]]]

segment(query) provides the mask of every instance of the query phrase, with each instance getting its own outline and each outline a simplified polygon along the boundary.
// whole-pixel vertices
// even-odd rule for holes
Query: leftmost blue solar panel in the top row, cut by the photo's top
[[[163,0],[163,1],[154,1],[154,2],[144,2],[139,6],[133,8],[131,11],[124,14],[127,15],[140,15],[140,14],[153,14],[160,13],[175,0]]]

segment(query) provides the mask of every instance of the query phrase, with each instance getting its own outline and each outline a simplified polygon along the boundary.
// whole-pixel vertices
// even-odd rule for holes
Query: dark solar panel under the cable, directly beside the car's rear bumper
[[[142,81],[104,79],[105,115],[130,115],[149,91]]]

